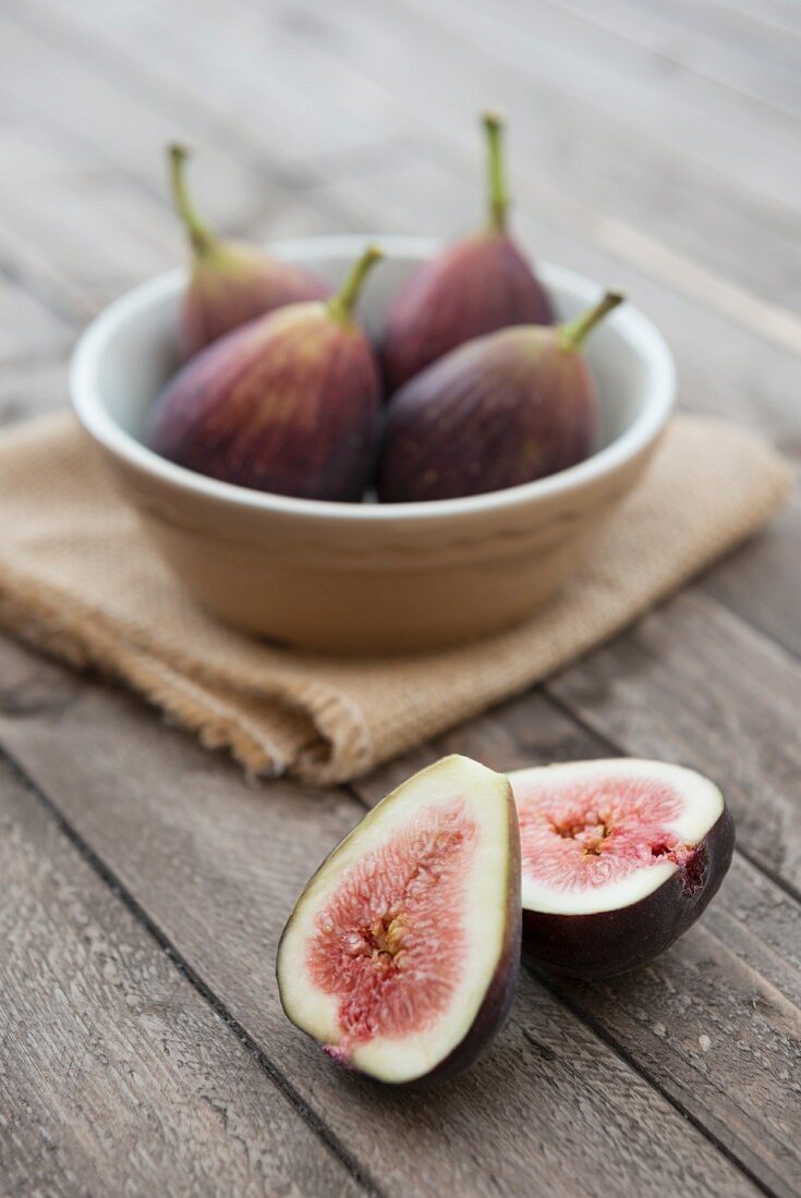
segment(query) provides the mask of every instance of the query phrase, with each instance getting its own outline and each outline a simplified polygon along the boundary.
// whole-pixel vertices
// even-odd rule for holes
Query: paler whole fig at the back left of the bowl
[[[326,283],[300,266],[276,261],[254,246],[222,241],[189,199],[183,177],[187,157],[185,146],[169,147],[173,198],[192,248],[179,327],[183,358],[255,316],[331,295]]]

